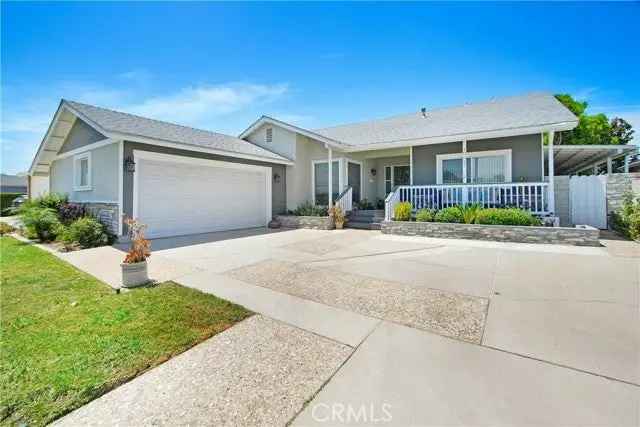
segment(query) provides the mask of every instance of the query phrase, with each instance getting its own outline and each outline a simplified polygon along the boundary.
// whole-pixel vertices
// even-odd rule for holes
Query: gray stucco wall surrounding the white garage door
[[[124,142],[124,158],[133,158],[133,151],[149,151],[154,153],[171,154],[175,156],[185,156],[198,159],[218,160],[230,163],[241,163],[257,166],[268,166],[271,168],[271,210],[273,215],[285,213],[287,210],[286,200],[286,168],[284,165],[261,162],[255,160],[239,159],[235,157],[220,156],[216,154],[201,153],[189,150],[180,150],[169,147],[160,147],[155,145],[141,144],[137,142]],[[133,173],[123,170],[123,213],[127,216],[133,215]],[[280,176],[278,182],[273,178],[275,174]]]

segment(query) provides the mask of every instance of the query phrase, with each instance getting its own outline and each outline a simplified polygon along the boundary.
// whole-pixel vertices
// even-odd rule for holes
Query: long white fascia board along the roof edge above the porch
[[[576,127],[578,122],[554,123],[544,126],[527,126],[521,128],[498,129],[484,132],[460,133],[454,135],[442,135],[429,138],[405,139],[392,142],[380,142],[367,145],[348,146],[344,150],[347,152],[384,150],[395,147],[412,147],[416,145],[444,144],[447,142],[460,142],[467,140],[472,142],[477,139],[504,138],[509,136],[531,135],[542,132],[558,132],[563,130],[571,130]]]

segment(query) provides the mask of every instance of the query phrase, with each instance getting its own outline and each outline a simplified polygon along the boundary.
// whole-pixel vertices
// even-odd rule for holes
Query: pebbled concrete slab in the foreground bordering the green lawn
[[[284,425],[351,352],[256,315],[54,425]]]

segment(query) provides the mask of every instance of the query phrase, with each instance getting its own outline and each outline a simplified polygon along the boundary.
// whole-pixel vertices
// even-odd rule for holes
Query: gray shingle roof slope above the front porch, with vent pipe
[[[313,132],[350,145],[464,135],[517,129],[554,123],[577,122],[578,118],[547,93],[498,98],[486,102],[315,129]]]

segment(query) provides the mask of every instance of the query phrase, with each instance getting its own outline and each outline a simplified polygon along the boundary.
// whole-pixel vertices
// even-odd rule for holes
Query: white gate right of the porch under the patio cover
[[[572,176],[569,200],[573,224],[607,228],[606,175]]]

